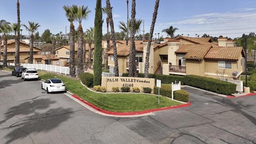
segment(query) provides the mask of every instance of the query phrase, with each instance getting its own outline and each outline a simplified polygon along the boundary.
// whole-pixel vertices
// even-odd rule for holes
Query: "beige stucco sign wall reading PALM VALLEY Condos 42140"
[[[107,92],[113,91],[113,87],[119,87],[121,91],[122,86],[130,87],[132,91],[133,87],[140,88],[142,92],[142,87],[150,87],[153,88],[155,86],[155,79],[154,78],[134,78],[134,77],[102,77],[101,86],[106,87]]]

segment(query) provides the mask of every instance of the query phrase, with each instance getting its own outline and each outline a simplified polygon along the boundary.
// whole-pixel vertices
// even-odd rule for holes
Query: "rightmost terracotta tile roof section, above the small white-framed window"
[[[206,59],[239,60],[241,52],[244,55],[242,46],[234,47],[213,47],[206,54]]]

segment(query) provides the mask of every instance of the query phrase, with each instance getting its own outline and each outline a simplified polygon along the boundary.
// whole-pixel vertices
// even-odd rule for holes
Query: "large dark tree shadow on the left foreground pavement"
[[[9,144],[25,137],[31,138],[30,134],[50,131],[68,120],[73,112],[72,108],[50,108],[54,103],[56,101],[43,98],[26,100],[18,106],[9,108],[5,113],[6,118],[0,121],[0,126],[4,126],[0,130],[12,130],[4,136],[5,143]]]

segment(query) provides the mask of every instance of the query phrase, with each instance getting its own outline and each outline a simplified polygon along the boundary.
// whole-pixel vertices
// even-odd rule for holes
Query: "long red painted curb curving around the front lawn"
[[[146,114],[146,113],[150,113],[150,112],[156,112],[159,110],[168,110],[168,109],[172,109],[172,108],[182,108],[185,106],[190,106],[190,102],[188,102],[187,104],[180,104],[178,106],[169,106],[169,107],[165,107],[165,108],[157,108],[157,109],[153,109],[153,110],[144,110],[144,111],[140,111],[140,112],[110,112],[107,110],[102,110],[101,108],[98,108],[97,106],[94,106],[93,104],[91,104],[90,102],[87,102],[86,100],[76,96],[76,95],[72,95],[74,98],[80,100],[81,102],[83,102],[84,104],[87,104],[88,106],[94,108],[95,110],[102,112],[104,114],[112,114],[112,115],[119,115],[119,116],[129,116],[129,115],[139,115],[139,114]]]

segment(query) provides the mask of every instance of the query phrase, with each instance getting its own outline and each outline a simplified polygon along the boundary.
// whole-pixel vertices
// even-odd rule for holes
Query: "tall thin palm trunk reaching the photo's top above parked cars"
[[[17,38],[15,38],[15,67],[20,66],[20,3],[17,0]],[[17,46],[16,46],[17,45]]]

